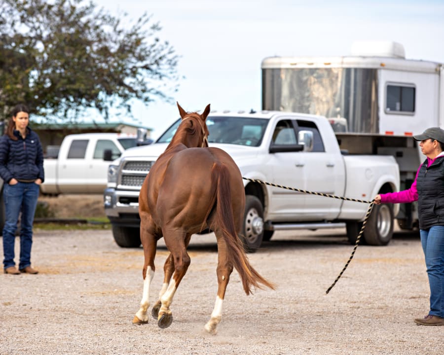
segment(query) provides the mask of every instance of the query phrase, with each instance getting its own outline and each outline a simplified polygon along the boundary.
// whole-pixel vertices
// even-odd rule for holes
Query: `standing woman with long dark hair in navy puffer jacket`
[[[43,150],[37,133],[29,127],[29,109],[17,105],[6,134],[0,138],[0,177],[6,220],[3,228],[3,269],[5,274],[37,274],[31,267],[34,214],[40,184],[44,181]],[[14,244],[19,214],[20,261],[15,267]]]

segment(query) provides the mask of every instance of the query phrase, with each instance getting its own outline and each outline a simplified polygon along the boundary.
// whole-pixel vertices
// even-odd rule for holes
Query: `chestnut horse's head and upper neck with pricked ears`
[[[187,147],[208,147],[208,135],[210,134],[205,120],[210,113],[210,104],[208,104],[203,113],[185,112],[177,103],[182,122],[179,125],[175,137]]]

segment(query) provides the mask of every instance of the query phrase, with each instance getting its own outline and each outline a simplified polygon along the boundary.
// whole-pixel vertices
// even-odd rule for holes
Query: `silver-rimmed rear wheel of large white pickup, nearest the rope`
[[[393,206],[374,205],[367,220],[364,238],[368,245],[385,246],[393,237]]]

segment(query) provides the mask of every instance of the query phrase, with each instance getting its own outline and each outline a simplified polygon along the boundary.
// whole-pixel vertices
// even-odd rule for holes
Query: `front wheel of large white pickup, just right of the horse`
[[[245,213],[241,239],[246,252],[255,252],[262,244],[263,207],[256,196],[245,196]]]

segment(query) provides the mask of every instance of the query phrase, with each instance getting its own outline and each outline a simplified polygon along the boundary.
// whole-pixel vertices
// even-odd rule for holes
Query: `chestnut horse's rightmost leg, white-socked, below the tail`
[[[222,237],[218,236],[218,233],[216,233],[216,237],[218,241],[218,294],[216,296],[216,303],[213,312],[211,313],[210,320],[205,324],[205,330],[213,335],[217,334],[217,326],[222,320],[223,299],[225,297],[226,286],[230,280],[230,275],[233,272],[233,265],[228,260],[225,241]]]

